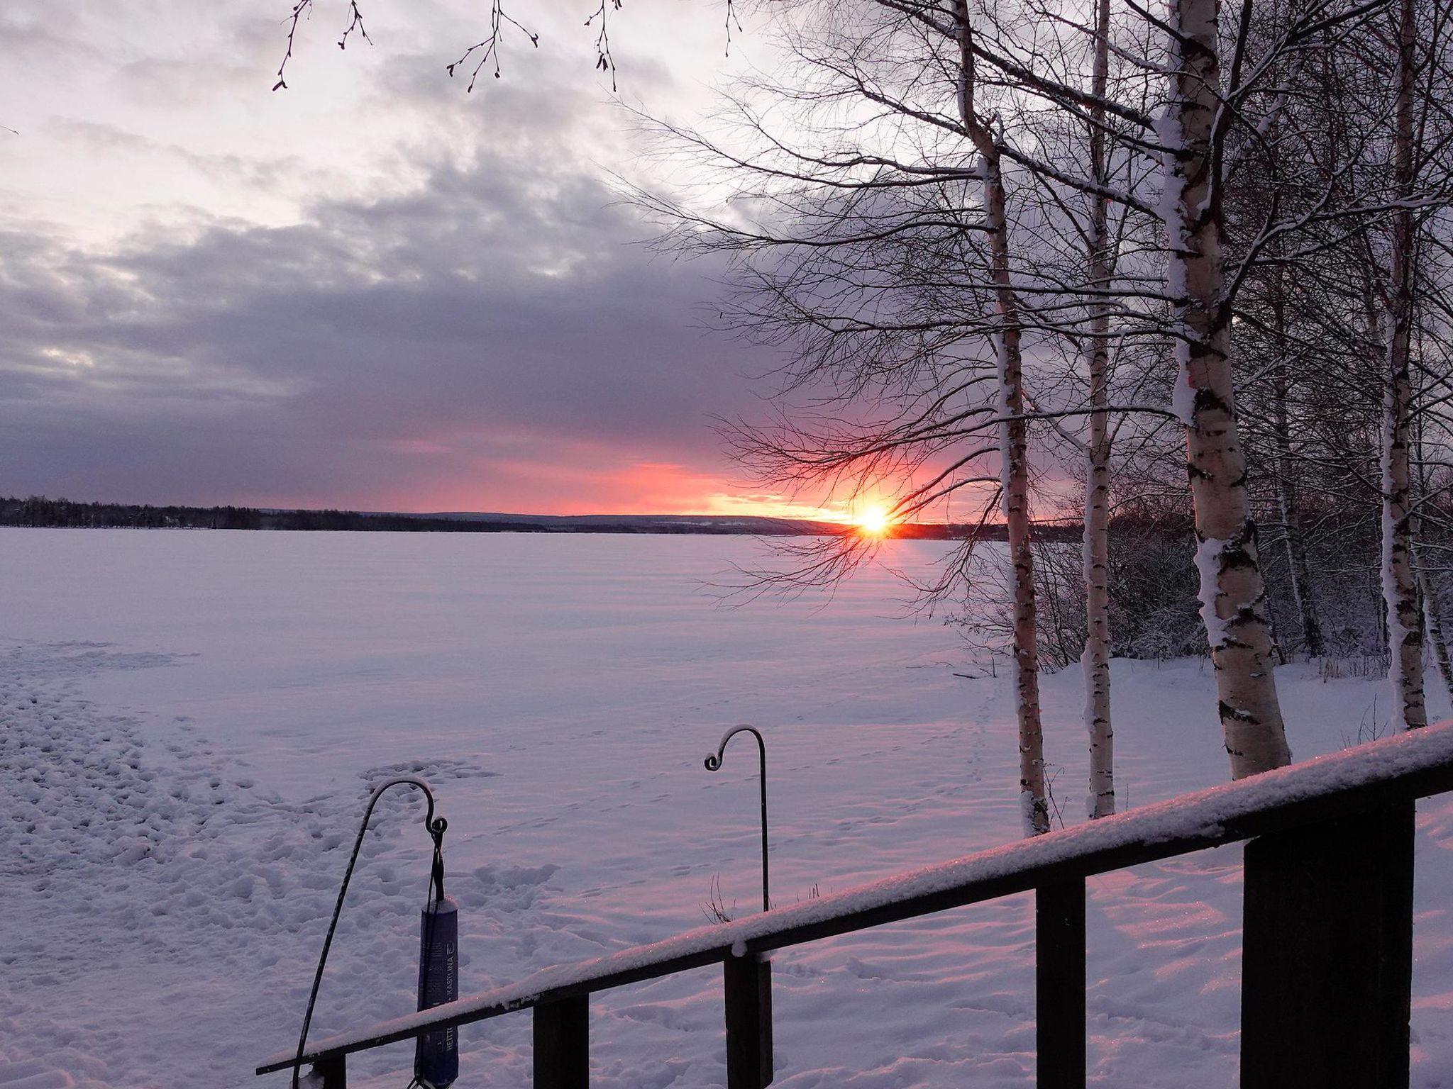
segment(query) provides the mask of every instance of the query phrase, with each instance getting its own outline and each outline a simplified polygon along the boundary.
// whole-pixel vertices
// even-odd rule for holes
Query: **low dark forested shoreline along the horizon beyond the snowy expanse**
[[[719,514],[497,514],[439,511],[280,510],[270,507],[151,507],[119,502],[73,502],[44,495],[0,498],[0,526],[196,529],[196,530],[331,530],[389,533],[709,533],[766,537],[822,537],[850,533],[837,521],[763,518]],[[904,523],[895,537],[962,540],[974,526]],[[1003,537],[988,526],[987,537]]]

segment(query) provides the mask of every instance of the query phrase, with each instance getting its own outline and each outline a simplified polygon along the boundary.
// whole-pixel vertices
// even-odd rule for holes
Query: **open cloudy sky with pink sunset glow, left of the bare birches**
[[[487,0],[0,6],[0,494],[368,510],[732,511],[709,415],[761,350],[705,333],[712,269],[641,245],[649,177],[591,0],[514,0],[472,94],[445,65]],[[613,16],[620,97],[692,121],[711,0]]]

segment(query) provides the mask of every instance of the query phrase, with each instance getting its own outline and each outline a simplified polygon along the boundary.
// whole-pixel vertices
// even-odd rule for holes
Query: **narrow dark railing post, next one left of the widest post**
[[[1035,890],[1035,1044],[1039,1089],[1085,1085],[1085,883]]]

